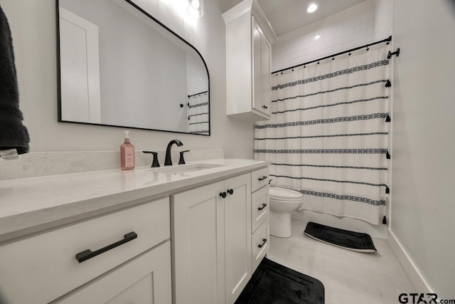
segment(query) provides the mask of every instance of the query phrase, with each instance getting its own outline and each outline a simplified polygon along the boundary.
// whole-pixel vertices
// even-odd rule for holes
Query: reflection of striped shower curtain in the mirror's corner
[[[188,133],[208,135],[208,115],[207,92],[188,96]]]

